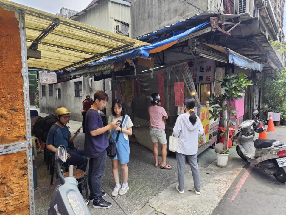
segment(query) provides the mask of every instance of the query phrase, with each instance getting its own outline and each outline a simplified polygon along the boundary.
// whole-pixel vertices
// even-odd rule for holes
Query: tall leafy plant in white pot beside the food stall
[[[247,80],[244,73],[227,75],[223,78],[221,87],[224,89],[224,93],[220,95],[212,94],[209,97],[209,106],[213,106],[213,110],[209,110],[211,119],[220,118],[221,114],[224,116],[225,130],[222,133],[224,136],[224,144],[217,144],[215,146],[217,154],[217,165],[220,167],[226,167],[229,156],[229,130],[230,130],[230,119],[232,116],[237,115],[237,111],[234,110],[232,103],[235,100],[242,99],[242,93],[247,90],[248,85],[252,85],[251,80]]]

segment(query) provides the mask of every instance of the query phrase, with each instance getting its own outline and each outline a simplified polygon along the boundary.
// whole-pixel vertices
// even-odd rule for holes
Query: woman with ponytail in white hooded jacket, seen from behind
[[[187,97],[184,99],[185,113],[178,116],[173,129],[173,136],[179,137],[176,158],[178,163],[178,185],[176,189],[184,194],[184,172],[186,158],[191,166],[194,180],[194,191],[200,194],[200,174],[197,162],[198,137],[203,135],[204,129],[200,118],[194,113],[195,99]]]

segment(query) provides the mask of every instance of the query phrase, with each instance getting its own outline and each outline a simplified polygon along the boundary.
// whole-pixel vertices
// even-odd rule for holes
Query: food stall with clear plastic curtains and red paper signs
[[[162,106],[169,116],[165,122],[167,142],[178,115],[184,113],[184,98],[192,96],[196,101],[195,113],[200,116],[205,129],[198,142],[199,154],[217,140],[218,120],[209,121],[207,100],[213,91],[214,75],[215,60],[200,58],[198,61],[164,66],[156,71],[143,71],[136,76],[115,76],[112,81],[113,99],[124,101],[127,114],[133,119],[136,141],[153,150],[148,113],[150,95],[154,92],[160,94]]]

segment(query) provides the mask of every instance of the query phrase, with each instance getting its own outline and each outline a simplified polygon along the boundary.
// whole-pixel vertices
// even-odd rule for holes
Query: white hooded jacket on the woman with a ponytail
[[[178,116],[173,128],[173,136],[179,137],[178,153],[194,155],[198,152],[198,137],[203,135],[204,129],[198,116],[195,125],[190,122],[189,117],[188,113]]]

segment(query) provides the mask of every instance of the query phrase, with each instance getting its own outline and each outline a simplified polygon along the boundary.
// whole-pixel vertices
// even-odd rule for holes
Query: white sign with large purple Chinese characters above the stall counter
[[[193,82],[211,83],[215,78],[215,60],[208,58],[199,58],[188,62],[190,71],[192,72]]]

